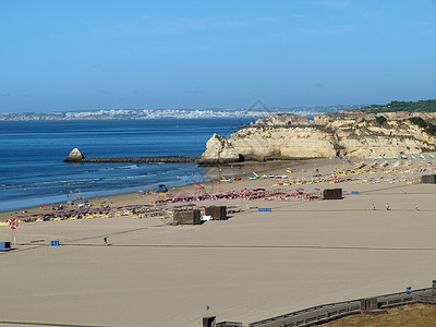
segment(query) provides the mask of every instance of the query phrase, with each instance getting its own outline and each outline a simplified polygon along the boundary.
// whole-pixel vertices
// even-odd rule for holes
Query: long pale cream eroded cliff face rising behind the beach
[[[335,121],[326,126],[249,126],[229,138],[215,134],[199,159],[206,162],[399,156],[434,149],[436,138],[408,120]]]

